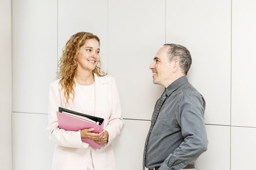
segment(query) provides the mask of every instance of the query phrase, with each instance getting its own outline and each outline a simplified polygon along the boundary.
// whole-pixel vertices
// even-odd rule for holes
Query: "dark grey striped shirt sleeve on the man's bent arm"
[[[184,141],[165,159],[159,170],[180,170],[207,150],[204,99],[198,94],[186,94],[179,103],[176,119]]]

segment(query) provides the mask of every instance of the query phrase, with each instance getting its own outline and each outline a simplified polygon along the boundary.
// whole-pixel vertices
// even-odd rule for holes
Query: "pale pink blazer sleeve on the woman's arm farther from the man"
[[[82,142],[80,131],[66,131],[59,128],[56,111],[61,106],[61,97],[59,92],[59,81],[55,81],[50,85],[49,101],[48,101],[48,125],[47,131],[49,139],[60,146],[70,148],[87,148],[88,144]]]

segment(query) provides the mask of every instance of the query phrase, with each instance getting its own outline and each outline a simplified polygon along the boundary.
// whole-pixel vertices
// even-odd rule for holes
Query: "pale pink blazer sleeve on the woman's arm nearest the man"
[[[115,78],[112,77],[111,81],[111,113],[108,125],[105,130],[108,131],[108,143],[105,147],[113,142],[113,140],[120,135],[121,129],[123,127],[123,119],[121,117],[121,104],[118,95],[118,88]]]

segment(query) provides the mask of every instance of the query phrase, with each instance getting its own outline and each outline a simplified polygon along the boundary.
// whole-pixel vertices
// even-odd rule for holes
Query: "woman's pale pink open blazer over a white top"
[[[80,131],[74,132],[59,129],[56,116],[58,107],[62,106],[84,113],[84,103],[79,100],[78,89],[74,87],[76,92],[74,102],[70,101],[70,104],[66,107],[63,101],[63,93],[59,90],[59,81],[57,80],[50,85],[48,105],[49,123],[47,130],[50,140],[57,144],[53,155],[52,170],[86,170],[91,152],[95,170],[116,169],[111,143],[119,136],[123,126],[118,89],[113,77],[109,75],[98,77],[96,74],[94,74],[94,77],[96,91],[95,116],[105,119],[104,129],[109,133],[108,143],[102,149],[97,150],[81,141]]]

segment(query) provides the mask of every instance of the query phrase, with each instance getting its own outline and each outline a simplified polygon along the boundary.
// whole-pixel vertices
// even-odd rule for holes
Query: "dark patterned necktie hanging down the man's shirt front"
[[[146,149],[147,149],[148,139],[149,139],[149,136],[150,136],[151,131],[153,129],[153,126],[155,125],[155,122],[158,118],[159,110],[160,110],[163,102],[165,101],[165,99],[166,99],[166,90],[164,90],[164,92],[163,92],[163,94],[160,98],[160,101],[158,102],[157,109],[156,109],[156,111],[154,112],[154,114],[152,116],[151,125],[150,125],[149,131],[148,131],[148,135],[147,135],[146,142],[145,142],[145,147],[144,147],[144,152],[143,152],[143,170],[145,170],[145,156],[146,156]]]

